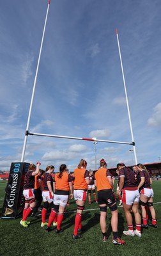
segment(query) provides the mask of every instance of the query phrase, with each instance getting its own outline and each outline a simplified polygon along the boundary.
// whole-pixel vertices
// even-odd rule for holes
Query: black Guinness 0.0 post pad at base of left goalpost
[[[22,215],[24,176],[28,168],[29,163],[11,163],[1,218],[15,219]]]

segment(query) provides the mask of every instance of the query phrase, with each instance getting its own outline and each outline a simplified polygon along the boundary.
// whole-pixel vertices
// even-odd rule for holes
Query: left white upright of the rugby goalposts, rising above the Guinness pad
[[[48,2],[48,6],[47,6],[45,24],[44,24],[44,27],[43,27],[42,43],[40,45],[40,52],[39,52],[39,56],[38,56],[36,74],[35,74],[35,77],[34,77],[33,93],[32,93],[32,96],[31,96],[31,103],[30,103],[30,107],[29,107],[29,115],[28,115],[28,119],[27,119],[26,134],[25,134],[25,138],[24,138],[24,146],[23,146],[23,150],[22,150],[21,162],[24,162],[24,155],[25,155],[26,144],[27,144],[27,135],[28,135],[28,131],[29,131],[29,122],[30,122],[30,118],[31,118],[31,111],[32,111],[32,108],[33,108],[34,91],[35,91],[35,88],[36,88],[36,81],[37,81],[37,77],[38,77],[38,68],[39,68],[39,64],[40,64],[40,57],[41,57],[41,54],[42,54],[43,38],[44,38],[44,35],[45,35],[45,28],[46,28],[46,24],[47,24],[47,16],[48,16],[48,12],[49,12],[49,6],[50,6],[50,0]]]

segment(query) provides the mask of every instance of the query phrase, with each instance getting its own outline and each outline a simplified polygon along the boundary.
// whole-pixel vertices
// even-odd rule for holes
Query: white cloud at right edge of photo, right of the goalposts
[[[161,102],[153,110],[153,115],[148,119],[148,125],[158,127],[161,125]]]

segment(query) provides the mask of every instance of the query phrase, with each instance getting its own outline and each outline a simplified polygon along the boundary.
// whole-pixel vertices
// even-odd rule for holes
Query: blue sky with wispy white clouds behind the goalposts
[[[3,1],[0,9],[0,170],[20,161],[47,0]],[[161,157],[160,0],[51,0],[29,132],[132,142],[116,28],[138,163]],[[132,145],[96,145],[97,165],[134,164]],[[80,159],[95,169],[92,141],[28,136],[24,161]]]

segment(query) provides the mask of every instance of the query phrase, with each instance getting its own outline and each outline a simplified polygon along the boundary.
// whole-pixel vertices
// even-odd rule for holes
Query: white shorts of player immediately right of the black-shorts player
[[[122,202],[127,205],[132,205],[134,202],[139,202],[140,193],[139,190],[125,190],[122,193]]]

